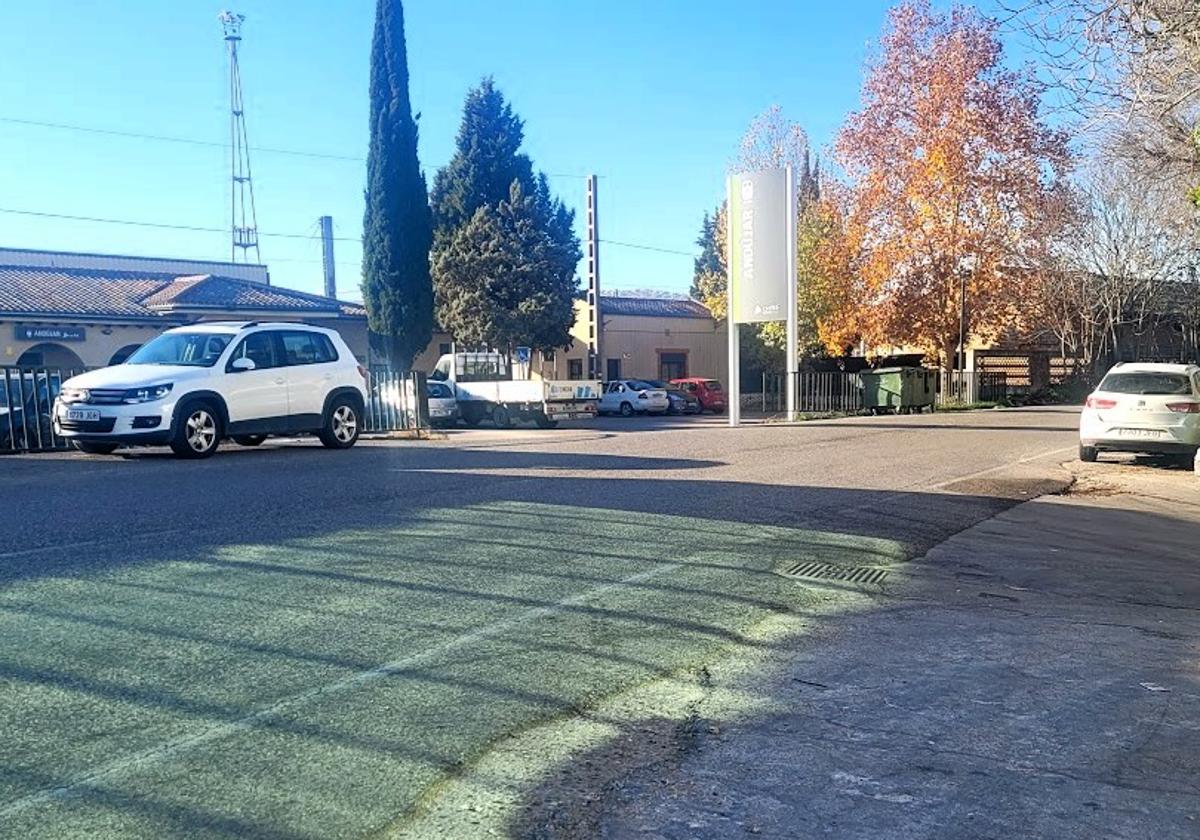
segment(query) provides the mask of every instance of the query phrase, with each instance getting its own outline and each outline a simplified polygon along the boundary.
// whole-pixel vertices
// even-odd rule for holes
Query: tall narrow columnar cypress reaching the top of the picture
[[[392,367],[408,370],[433,336],[432,228],[408,98],[401,0],[378,0],[371,44],[371,140],[362,220],[367,323]]]

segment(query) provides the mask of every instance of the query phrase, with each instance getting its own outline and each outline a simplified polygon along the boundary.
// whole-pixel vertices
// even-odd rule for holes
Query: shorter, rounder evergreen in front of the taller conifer
[[[582,256],[572,217],[545,178],[527,194],[479,208],[437,251],[438,320],[461,342],[511,354],[566,347],[575,320],[575,266]]]

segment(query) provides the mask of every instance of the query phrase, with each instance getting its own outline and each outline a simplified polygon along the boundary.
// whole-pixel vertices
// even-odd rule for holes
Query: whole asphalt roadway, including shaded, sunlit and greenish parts
[[[0,460],[0,836],[415,830],[505,738],[839,608],[773,571],[893,565],[1051,488],[1075,422]],[[554,752],[505,774],[536,784]]]

